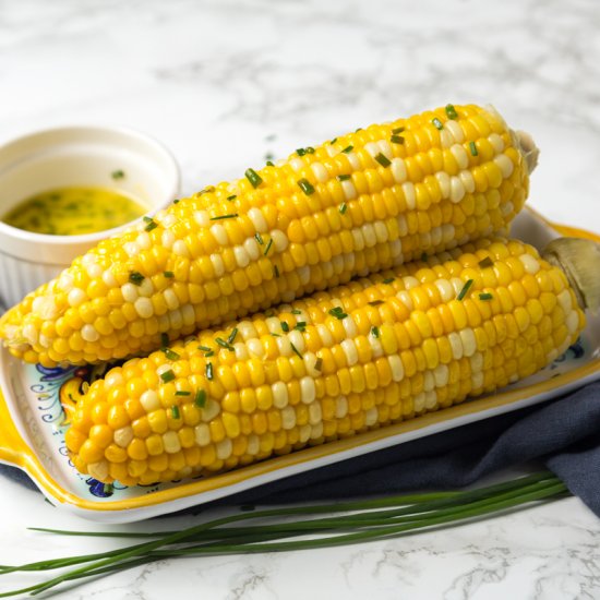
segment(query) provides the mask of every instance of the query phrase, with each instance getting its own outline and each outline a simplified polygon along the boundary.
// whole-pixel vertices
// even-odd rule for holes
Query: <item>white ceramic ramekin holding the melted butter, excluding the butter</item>
[[[113,173],[123,177],[115,179]],[[0,218],[38,192],[103,187],[130,193],[152,215],[177,197],[179,167],[156,140],[120,127],[65,127],[0,145]],[[83,236],[47,236],[0,220],[0,299],[7,307],[130,224]]]

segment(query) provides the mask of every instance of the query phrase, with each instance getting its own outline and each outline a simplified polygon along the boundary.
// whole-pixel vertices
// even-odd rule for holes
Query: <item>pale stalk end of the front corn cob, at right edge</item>
[[[600,310],[600,244],[581,238],[557,238],[542,256],[566,275],[581,309]]]

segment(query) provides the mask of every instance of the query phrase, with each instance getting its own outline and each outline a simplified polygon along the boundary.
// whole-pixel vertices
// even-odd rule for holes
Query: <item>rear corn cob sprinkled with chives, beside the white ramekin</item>
[[[448,105],[299,149],[101,242],[10,310],[0,336],[48,367],[147,353],[502,232],[527,196],[528,146],[492,109]]]

